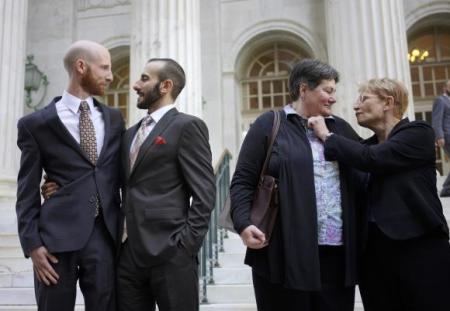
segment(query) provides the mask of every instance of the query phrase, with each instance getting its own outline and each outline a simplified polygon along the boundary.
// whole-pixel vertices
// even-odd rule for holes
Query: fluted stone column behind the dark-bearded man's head
[[[133,85],[150,58],[176,60],[186,73],[186,86],[176,100],[179,110],[201,116],[199,0],[133,0],[130,83]],[[130,94],[130,124],[142,115]]]

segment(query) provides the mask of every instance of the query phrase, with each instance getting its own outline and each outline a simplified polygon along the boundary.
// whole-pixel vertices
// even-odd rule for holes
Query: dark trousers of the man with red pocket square
[[[120,311],[198,311],[197,258],[178,249],[167,262],[150,268],[135,264],[126,241],[117,270]]]

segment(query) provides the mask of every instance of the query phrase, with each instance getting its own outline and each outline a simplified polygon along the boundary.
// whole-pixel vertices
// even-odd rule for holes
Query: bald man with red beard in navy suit
[[[62,97],[18,122],[20,242],[33,261],[39,311],[74,310],[77,281],[86,310],[113,311],[124,122],[92,97],[113,79],[111,57],[98,43],[77,41],[64,67]],[[59,189],[41,204],[43,171]]]

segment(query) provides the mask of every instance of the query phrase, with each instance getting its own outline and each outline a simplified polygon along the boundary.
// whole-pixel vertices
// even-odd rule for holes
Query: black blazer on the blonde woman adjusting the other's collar
[[[427,123],[403,119],[381,144],[376,136],[360,144],[332,135],[325,155],[370,173],[370,217],[387,236],[409,239],[438,229],[448,237],[436,189],[434,133]]]

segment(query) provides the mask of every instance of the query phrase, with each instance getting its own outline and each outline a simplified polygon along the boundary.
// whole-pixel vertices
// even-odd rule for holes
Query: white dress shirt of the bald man
[[[103,140],[105,138],[105,121],[101,110],[94,106],[94,100],[92,97],[80,99],[72,94],[69,94],[67,91],[64,91],[62,98],[56,103],[56,112],[69,133],[72,134],[77,143],[80,143],[79,107],[82,101],[86,101],[89,105],[89,116],[94,124],[95,136],[97,140],[97,156],[100,156],[100,152],[103,147]]]

